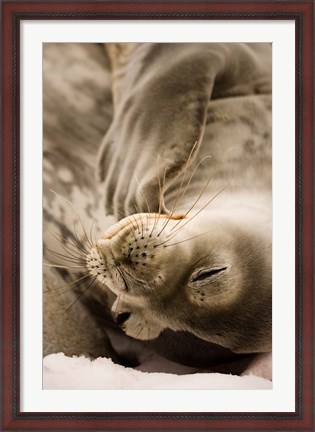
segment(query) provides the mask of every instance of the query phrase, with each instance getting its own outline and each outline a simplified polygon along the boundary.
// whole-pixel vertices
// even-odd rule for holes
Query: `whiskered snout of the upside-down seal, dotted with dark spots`
[[[90,274],[116,294],[147,295],[164,280],[166,261],[174,252],[167,245],[181,219],[181,215],[140,213],[117,222],[88,254]]]

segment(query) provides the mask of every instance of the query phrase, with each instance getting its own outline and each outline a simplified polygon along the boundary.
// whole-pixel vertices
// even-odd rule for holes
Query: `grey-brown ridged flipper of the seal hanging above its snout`
[[[120,96],[98,156],[106,211],[117,219],[135,206],[166,212],[158,177],[167,188],[196,142],[198,151],[209,99],[265,92],[269,73],[245,44],[138,44],[127,53],[113,71]]]

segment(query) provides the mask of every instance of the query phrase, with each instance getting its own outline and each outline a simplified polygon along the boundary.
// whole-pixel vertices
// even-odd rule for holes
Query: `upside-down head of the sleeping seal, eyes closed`
[[[212,209],[199,223],[135,214],[100,237],[87,268],[117,295],[112,314],[127,335],[151,340],[170,329],[237,353],[270,349],[268,236],[258,237],[257,215],[244,230],[243,212],[231,220]]]

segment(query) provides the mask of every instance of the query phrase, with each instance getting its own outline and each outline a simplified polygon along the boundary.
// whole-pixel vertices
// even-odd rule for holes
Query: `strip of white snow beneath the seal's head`
[[[84,356],[67,357],[63,353],[46,356],[43,369],[45,390],[272,389],[271,381],[253,375],[142,372],[120,366],[107,358],[90,360]]]

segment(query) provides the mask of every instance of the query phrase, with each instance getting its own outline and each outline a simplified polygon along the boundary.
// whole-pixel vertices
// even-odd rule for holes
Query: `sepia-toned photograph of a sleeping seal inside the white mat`
[[[272,44],[43,44],[43,182],[45,389],[272,388]]]

